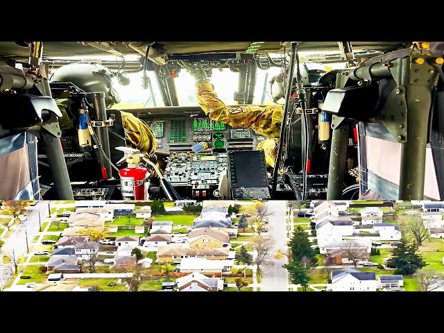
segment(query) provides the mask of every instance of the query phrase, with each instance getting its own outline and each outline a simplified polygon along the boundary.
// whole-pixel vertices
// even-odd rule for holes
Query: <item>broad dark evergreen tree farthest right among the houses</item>
[[[427,266],[417,251],[416,243],[409,245],[405,239],[401,239],[400,244],[391,250],[391,259],[388,259],[388,264],[396,268],[395,274],[412,275],[418,269]]]

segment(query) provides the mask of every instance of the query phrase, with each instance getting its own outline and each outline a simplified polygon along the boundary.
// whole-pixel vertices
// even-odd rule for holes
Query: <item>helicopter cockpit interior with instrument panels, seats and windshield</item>
[[[443,200],[434,45],[1,42],[0,163],[14,171],[0,199]],[[227,117],[204,112],[182,62],[205,71]],[[239,120],[268,108],[282,110],[278,135]],[[125,114],[151,151],[128,142],[143,135]]]

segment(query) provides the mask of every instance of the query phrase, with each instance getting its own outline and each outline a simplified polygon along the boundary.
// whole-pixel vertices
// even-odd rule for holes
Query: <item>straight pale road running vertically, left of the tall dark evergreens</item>
[[[266,205],[270,207],[270,210],[275,212],[273,217],[268,222],[268,236],[275,240],[275,246],[273,248],[273,254],[277,250],[285,250],[287,252],[286,244],[286,221],[285,221],[285,201],[274,200],[267,201]],[[287,264],[287,256],[282,259],[272,259],[273,266],[264,266],[262,268],[262,286],[261,291],[289,291],[289,279],[288,273],[283,264]]]

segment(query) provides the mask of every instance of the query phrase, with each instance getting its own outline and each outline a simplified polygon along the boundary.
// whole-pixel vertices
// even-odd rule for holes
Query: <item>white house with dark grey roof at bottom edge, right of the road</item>
[[[327,289],[332,291],[376,291],[376,273],[359,272],[352,268],[334,270]]]

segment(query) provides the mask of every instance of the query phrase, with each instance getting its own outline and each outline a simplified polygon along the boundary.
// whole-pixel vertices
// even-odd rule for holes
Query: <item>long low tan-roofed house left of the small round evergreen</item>
[[[228,259],[230,249],[226,248],[185,248],[182,244],[169,244],[157,250],[158,262],[180,262],[184,258],[204,258],[208,260]]]

